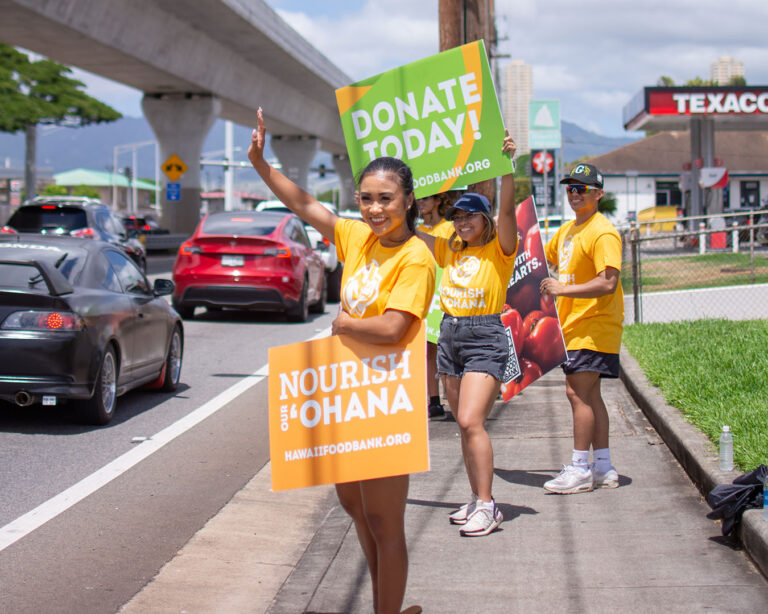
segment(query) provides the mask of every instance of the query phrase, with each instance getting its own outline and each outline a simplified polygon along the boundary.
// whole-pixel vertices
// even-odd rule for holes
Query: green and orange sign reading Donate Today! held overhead
[[[424,198],[512,172],[483,41],[340,88],[336,100],[355,177],[400,158]]]

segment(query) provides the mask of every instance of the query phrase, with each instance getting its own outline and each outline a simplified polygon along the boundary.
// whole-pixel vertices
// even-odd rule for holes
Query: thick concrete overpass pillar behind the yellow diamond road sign
[[[192,234],[200,221],[200,155],[221,102],[199,94],[145,94],[141,107],[160,143],[161,168],[174,154],[187,167],[173,182],[181,186],[179,200],[167,199],[170,180],[162,175],[161,224],[173,233]]]

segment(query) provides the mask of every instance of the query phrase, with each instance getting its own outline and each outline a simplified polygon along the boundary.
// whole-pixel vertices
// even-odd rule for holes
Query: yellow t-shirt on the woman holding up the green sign
[[[501,251],[499,237],[454,252],[448,239],[435,238],[435,260],[443,267],[440,308],[452,316],[501,313],[507,284],[515,268],[515,254]]]

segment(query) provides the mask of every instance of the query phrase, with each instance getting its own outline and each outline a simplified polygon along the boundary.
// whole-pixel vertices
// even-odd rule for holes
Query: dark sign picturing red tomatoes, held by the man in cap
[[[549,272],[532,197],[517,205],[516,217],[519,247],[501,314],[510,339],[501,386],[505,401],[567,360],[555,300],[539,292]]]

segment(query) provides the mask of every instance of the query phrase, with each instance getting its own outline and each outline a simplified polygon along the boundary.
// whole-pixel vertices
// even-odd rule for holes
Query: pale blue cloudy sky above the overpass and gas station
[[[353,80],[438,50],[437,0],[267,0]],[[709,78],[730,55],[747,83],[768,85],[768,0],[496,0],[499,53],[533,66],[534,98],[562,118],[626,134],[621,112],[661,75]],[[501,63],[504,60],[500,60]],[[78,72],[93,96],[140,115],[141,94]]]

